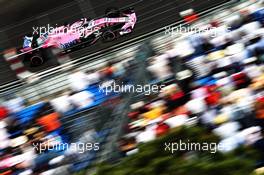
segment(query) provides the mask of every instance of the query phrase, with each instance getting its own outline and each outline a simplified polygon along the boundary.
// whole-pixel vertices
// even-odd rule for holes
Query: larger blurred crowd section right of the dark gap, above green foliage
[[[262,167],[263,19],[262,6],[248,6],[203,23],[214,29],[184,34],[149,57],[149,82],[166,86],[130,106],[129,124],[119,143],[123,155],[136,153],[138,144],[172,128],[200,125],[221,139],[221,152],[242,145],[255,148],[262,155],[256,166]]]

